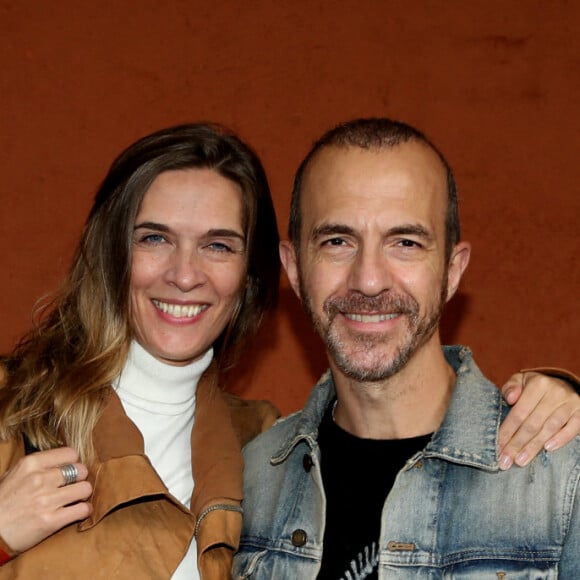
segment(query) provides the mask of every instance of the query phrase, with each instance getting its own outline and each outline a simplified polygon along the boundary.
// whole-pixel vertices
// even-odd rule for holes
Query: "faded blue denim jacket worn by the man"
[[[385,501],[379,578],[580,578],[580,438],[525,468],[499,470],[507,406],[469,349],[445,355],[455,389],[441,427]],[[303,411],[245,448],[234,578],[316,578],[326,507],[316,438],[333,397],[327,373]]]

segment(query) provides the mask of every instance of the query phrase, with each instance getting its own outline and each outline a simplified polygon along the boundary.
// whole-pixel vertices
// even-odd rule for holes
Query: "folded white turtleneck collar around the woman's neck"
[[[129,348],[125,366],[113,387],[122,400],[144,410],[163,415],[178,415],[195,404],[200,377],[209,367],[213,349],[183,366],[156,359],[137,341]]]

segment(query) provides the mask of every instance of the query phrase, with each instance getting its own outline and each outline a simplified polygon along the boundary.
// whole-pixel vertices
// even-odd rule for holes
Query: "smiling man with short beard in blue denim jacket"
[[[245,450],[237,577],[577,577],[579,439],[501,470],[507,406],[441,346],[459,230],[451,170],[408,125],[346,123],[299,168],[281,258],[330,372]]]

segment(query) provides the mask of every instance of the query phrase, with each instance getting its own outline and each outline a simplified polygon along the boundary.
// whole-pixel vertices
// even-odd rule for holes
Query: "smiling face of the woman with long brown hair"
[[[232,318],[246,276],[242,192],[211,169],[161,173],[135,220],[131,326],[155,358],[201,357]]]

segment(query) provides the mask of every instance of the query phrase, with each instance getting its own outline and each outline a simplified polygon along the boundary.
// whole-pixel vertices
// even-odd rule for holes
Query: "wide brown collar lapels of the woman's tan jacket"
[[[197,389],[196,417],[192,430],[192,470],[195,481],[191,513],[199,513],[216,501],[240,502],[242,470],[240,443],[218,387],[217,365],[204,373]],[[144,454],[141,432],[127,417],[111,388],[93,432],[96,461],[91,469],[93,513],[81,524],[89,528],[122,504],[147,496],[166,496],[189,513],[169,494]]]

